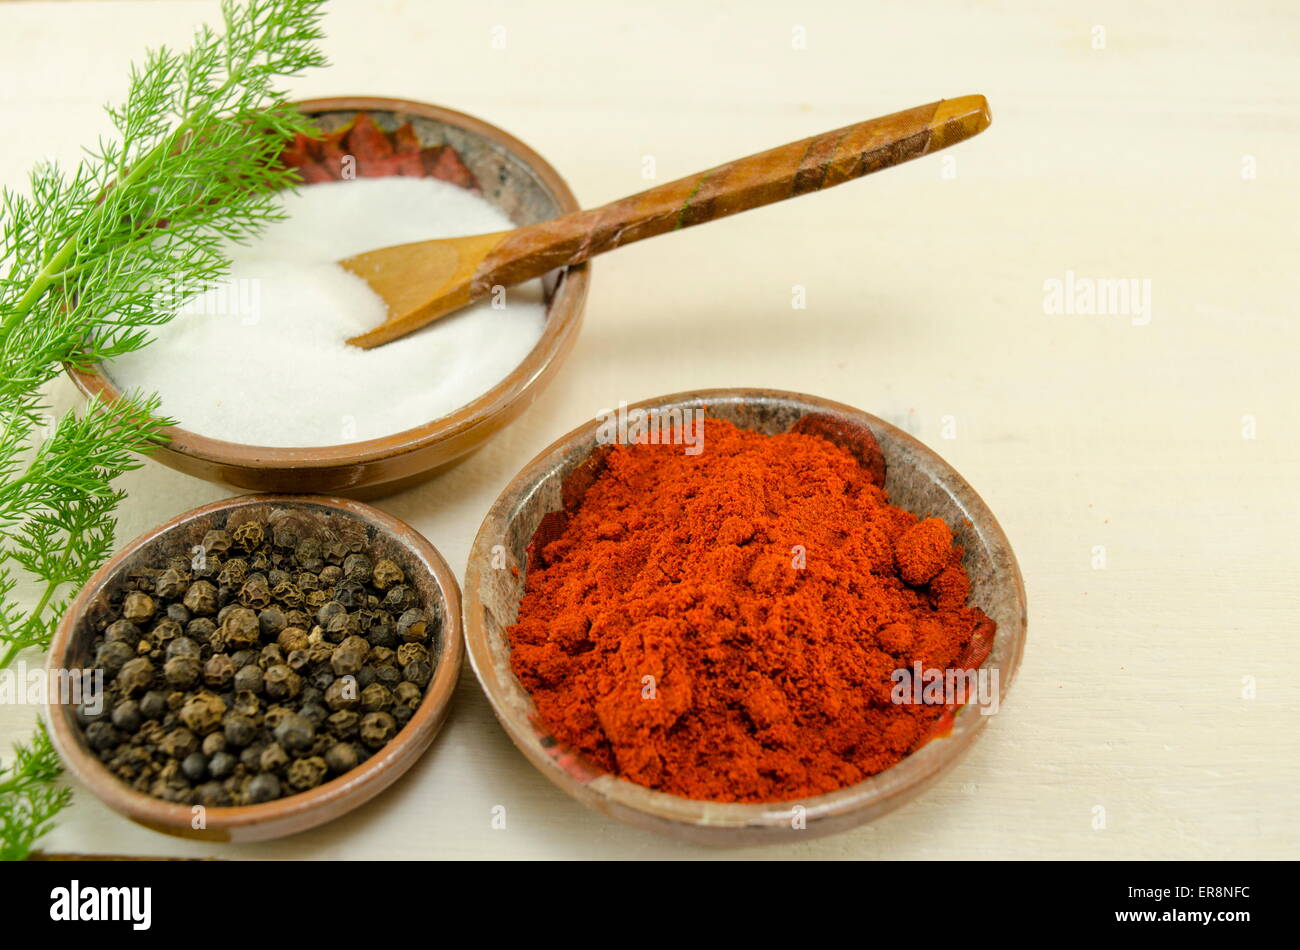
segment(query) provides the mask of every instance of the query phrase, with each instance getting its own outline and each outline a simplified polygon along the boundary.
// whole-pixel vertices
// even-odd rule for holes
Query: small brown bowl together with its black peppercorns
[[[368,504],[243,495],[136,538],[64,615],[49,732],[138,824],[263,841],[369,801],[429,747],[460,672],[460,590]]]

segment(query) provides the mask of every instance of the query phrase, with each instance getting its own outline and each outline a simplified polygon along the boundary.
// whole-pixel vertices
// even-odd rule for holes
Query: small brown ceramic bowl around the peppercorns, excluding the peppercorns
[[[324,495],[243,495],[195,508],[127,545],[82,589],[64,615],[49,648],[49,669],[87,669],[98,633],[95,621],[108,598],[133,571],[169,556],[188,558],[212,528],[250,519],[265,521],[272,511],[291,511],[300,530],[321,538],[365,532],[368,550],[390,558],[406,572],[430,616],[441,619],[433,641],[433,678],[424,700],[398,734],[369,759],[324,785],[264,804],[207,808],[195,828],[194,808],[135,791],[87,747],[75,707],[51,697],[49,734],[68,771],[105,804],[136,824],[166,834],[205,841],[264,841],[315,828],[351,811],[391,785],[429,747],[447,716],[460,674],[460,589],[442,555],[410,525],[360,502]]]

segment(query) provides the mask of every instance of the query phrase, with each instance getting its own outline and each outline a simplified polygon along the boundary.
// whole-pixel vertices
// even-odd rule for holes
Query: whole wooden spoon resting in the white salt
[[[493,292],[633,240],[829,188],[968,139],[991,121],[984,96],[944,99],[719,165],[528,227],[417,240],[339,261],[384,298],[389,317],[348,340],[377,347]]]

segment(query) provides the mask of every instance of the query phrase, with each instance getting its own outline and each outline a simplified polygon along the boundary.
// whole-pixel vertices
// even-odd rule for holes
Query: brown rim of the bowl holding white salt
[[[568,183],[549,161],[510,133],[476,116],[430,103],[387,96],[325,96],[304,99],[291,103],[291,105],[309,114],[351,110],[408,113],[465,129],[494,142],[523,160],[529,172],[555,196],[560,205],[560,214],[581,208]],[[503,412],[515,400],[524,396],[540,377],[545,376],[547,366],[564,351],[568,335],[581,324],[590,279],[589,264],[567,268],[551,303],[547,304],[546,326],[537,344],[504,379],[446,416],[389,435],[334,446],[259,446],[209,438],[182,426],[166,426],[161,431],[169,441],[160,446],[160,452],[174,452],[221,468],[329,469],[370,465],[451,439]],[[555,298],[560,292],[568,295],[568,305],[555,307]],[[66,365],[65,369],[77,389],[87,398],[114,400],[122,395],[121,390],[103,373],[74,365]]]

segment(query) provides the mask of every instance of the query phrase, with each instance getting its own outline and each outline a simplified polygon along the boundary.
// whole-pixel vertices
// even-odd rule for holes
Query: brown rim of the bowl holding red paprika
[[[957,500],[971,526],[976,528],[991,542],[991,548],[1004,552],[1006,556],[1008,571],[1002,584],[1008,585],[1014,597],[1017,611],[1014,623],[1006,634],[1002,634],[1001,628],[998,629],[998,635],[1010,637],[1010,652],[1005,656],[1004,673],[998,677],[998,708],[1001,708],[1024,654],[1028,606],[1024,581],[1011,543],[992,509],[971,487],[970,482],[927,444],[879,416],[846,403],[805,392],[746,387],[688,390],[644,399],[632,403],[627,409],[630,412],[638,408],[708,405],[724,402],[793,402],[809,412],[822,409],[853,416],[870,422],[874,430],[889,431],[892,438],[916,456],[928,459],[930,464],[937,463],[936,469],[961,489],[962,494],[957,496]],[[593,429],[594,424],[588,421],[569,430],[538,452],[511,478],[484,517],[471,546],[469,563],[464,574],[465,610],[463,616],[465,654],[469,665],[488,697],[498,723],[515,746],[542,775],[582,804],[628,824],[706,845],[754,845],[806,841],[809,837],[848,830],[858,824],[875,820],[911,801],[935,778],[956,767],[974,746],[989,719],[989,716],[972,715],[968,707],[957,712],[953,728],[948,734],[928,741],[890,768],[835,791],[783,802],[737,803],[684,798],[649,789],[597,769],[571,750],[559,756],[549,751],[541,742],[542,736],[536,726],[532,723],[519,721],[519,716],[500,695],[503,690],[520,690],[526,697],[528,690],[517,680],[504,685],[497,680],[484,624],[486,608],[478,591],[484,574],[482,564],[486,563],[485,552],[490,554],[493,543],[500,543],[500,534],[494,532],[493,526],[498,521],[504,522],[508,519],[510,508],[516,507],[537,490],[551,464],[581,443]],[[575,762],[575,759],[577,760]],[[582,777],[578,778],[575,773]],[[786,833],[790,829],[794,806],[801,806],[805,810],[807,830],[801,834]]]

